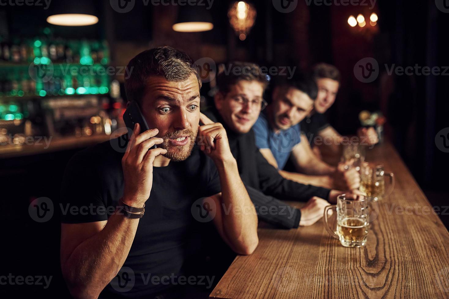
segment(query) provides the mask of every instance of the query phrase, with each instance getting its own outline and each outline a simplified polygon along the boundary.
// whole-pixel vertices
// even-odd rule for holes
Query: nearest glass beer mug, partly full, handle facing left
[[[335,239],[339,239],[344,247],[362,247],[368,238],[369,203],[371,197],[357,194],[341,194],[337,197],[337,205],[328,205],[324,209],[324,225],[326,231]],[[337,211],[337,231],[329,227],[328,211]]]

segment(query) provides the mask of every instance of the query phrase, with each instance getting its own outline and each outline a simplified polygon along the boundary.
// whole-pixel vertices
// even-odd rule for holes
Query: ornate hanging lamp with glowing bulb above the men
[[[245,1],[237,1],[231,4],[228,10],[229,23],[231,23],[240,40],[247,38],[248,32],[254,25],[255,16],[256,12],[253,5]]]

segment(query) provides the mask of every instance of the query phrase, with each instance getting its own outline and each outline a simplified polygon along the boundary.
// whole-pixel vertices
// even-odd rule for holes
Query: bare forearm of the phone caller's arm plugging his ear
[[[229,242],[240,252],[250,254],[257,238],[257,214],[242,179],[235,159],[216,162],[224,205],[223,226]],[[229,213],[227,213],[229,211]]]

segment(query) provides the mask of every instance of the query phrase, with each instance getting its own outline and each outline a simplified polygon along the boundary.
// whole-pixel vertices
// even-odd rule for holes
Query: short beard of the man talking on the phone
[[[190,154],[192,153],[192,149],[195,145],[196,134],[197,132],[194,133],[189,129],[168,132],[164,137],[162,137],[164,141],[162,144],[158,145],[158,147],[167,149],[167,153],[164,154],[164,156],[169,158],[170,160],[175,162],[184,161],[185,159],[189,158]],[[187,138],[190,139],[189,143],[183,146],[172,145],[170,142],[170,138],[179,135],[188,135]]]

